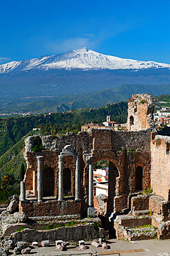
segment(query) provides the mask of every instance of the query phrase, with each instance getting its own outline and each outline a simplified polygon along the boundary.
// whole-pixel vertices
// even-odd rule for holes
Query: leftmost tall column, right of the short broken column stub
[[[43,156],[36,156],[37,158],[37,198],[38,202],[43,201],[43,181],[42,181],[42,158]]]

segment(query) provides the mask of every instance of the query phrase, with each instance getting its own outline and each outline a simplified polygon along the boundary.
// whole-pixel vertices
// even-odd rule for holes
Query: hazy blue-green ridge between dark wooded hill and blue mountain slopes
[[[169,84],[145,85],[124,84],[116,88],[103,89],[90,93],[61,95],[52,98],[25,98],[0,102],[0,113],[32,113],[63,112],[71,109],[104,107],[106,104],[128,100],[132,93],[148,93],[153,96],[170,93]]]

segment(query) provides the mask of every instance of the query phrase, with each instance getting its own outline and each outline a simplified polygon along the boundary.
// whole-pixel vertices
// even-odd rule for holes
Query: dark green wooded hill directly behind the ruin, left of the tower
[[[67,131],[76,133],[80,131],[81,125],[85,122],[103,122],[108,114],[117,122],[125,122],[127,102],[109,104],[107,107],[98,109],[77,109],[52,115],[0,118],[0,156],[33,128],[40,128],[44,135],[65,134]]]

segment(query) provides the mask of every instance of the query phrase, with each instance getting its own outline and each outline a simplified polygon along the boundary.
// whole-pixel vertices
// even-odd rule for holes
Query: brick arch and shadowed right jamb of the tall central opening
[[[113,160],[107,156],[94,157],[94,163],[100,160],[109,161],[109,177],[108,177],[108,199],[107,212],[114,211],[114,196],[116,196],[116,188],[119,186],[120,170],[118,170],[118,161]]]

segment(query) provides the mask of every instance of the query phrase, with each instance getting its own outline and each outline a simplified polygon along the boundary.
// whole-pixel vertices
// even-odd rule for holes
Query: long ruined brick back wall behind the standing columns
[[[127,194],[135,192],[135,170],[136,167],[143,168],[143,188],[150,187],[150,142],[151,129],[142,131],[110,131],[110,130],[89,130],[75,134],[66,134],[65,136],[42,136],[41,142],[45,150],[39,153],[33,153],[32,147],[36,137],[31,136],[25,140],[25,159],[28,168],[25,173],[25,190],[30,197],[36,195],[36,156],[43,156],[43,170],[46,167],[54,169],[54,196],[58,194],[58,172],[59,172],[59,154],[61,154],[65,145],[71,145],[80,156],[80,190],[81,190],[81,214],[85,216],[88,203],[88,163],[85,154],[91,153],[94,157],[94,163],[101,159],[109,160],[118,170],[116,183],[114,176],[109,175],[109,188],[113,191],[109,196],[107,208],[114,210],[114,196],[119,196],[115,201],[117,211],[120,208],[126,208]],[[69,167],[72,171],[72,196],[74,196],[74,176],[75,176],[75,157],[64,156],[63,168]],[[35,213],[35,212],[34,212]],[[80,212],[79,212],[80,213]]]

